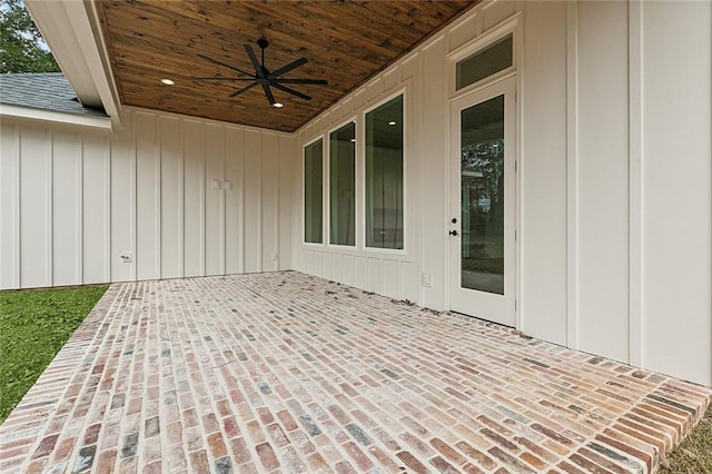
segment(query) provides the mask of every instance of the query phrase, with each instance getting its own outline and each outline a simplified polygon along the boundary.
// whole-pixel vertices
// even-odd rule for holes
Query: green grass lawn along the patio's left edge
[[[0,292],[0,423],[106,289],[85,286]]]

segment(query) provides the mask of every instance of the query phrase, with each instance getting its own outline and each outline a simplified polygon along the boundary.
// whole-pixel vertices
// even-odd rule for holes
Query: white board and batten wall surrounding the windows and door
[[[517,327],[711,385],[711,8],[475,7],[298,131],[299,149],[326,147],[330,130],[405,90],[405,254],[305,245],[299,219],[296,268],[448,308],[448,55],[514,21]]]

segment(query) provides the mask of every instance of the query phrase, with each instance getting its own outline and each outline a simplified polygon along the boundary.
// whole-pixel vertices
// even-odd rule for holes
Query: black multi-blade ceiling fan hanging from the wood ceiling
[[[280,102],[278,102],[277,100],[275,100],[275,96],[271,92],[271,88],[276,88],[279,89],[281,91],[291,93],[293,96],[297,96],[304,100],[312,100],[312,97],[307,96],[306,93],[299,92],[298,90],[294,90],[290,87],[287,87],[285,85],[293,85],[293,83],[306,83],[306,85],[316,85],[316,86],[326,86],[327,81],[324,79],[293,79],[293,78],[283,78],[281,76],[286,75],[287,72],[297,69],[300,66],[306,65],[308,61],[306,58],[299,58],[295,61],[289,62],[286,66],[283,66],[281,68],[275,70],[275,71],[270,71],[269,69],[267,69],[265,67],[265,49],[267,49],[267,47],[269,46],[269,41],[267,41],[267,39],[265,38],[260,38],[257,40],[257,46],[261,49],[261,65],[259,63],[259,61],[257,60],[257,56],[255,55],[255,50],[253,49],[251,46],[249,45],[244,45],[245,47],[245,51],[247,52],[247,56],[249,57],[250,62],[253,63],[253,67],[255,68],[255,72],[246,72],[239,68],[236,68],[235,66],[230,66],[227,65],[225,62],[218,61],[216,59],[212,58],[208,58],[207,56],[204,55],[198,55],[198,57],[214,62],[218,66],[222,66],[226,68],[229,68],[236,72],[239,72],[240,75],[244,76],[248,76],[247,78],[241,78],[241,77],[237,77],[237,78],[220,78],[220,77],[211,77],[211,78],[197,78],[197,79],[201,79],[201,80],[233,80],[233,81],[250,81],[249,85],[247,85],[246,87],[236,90],[235,92],[230,93],[229,97],[236,97],[239,96],[243,92],[246,92],[247,90],[251,89],[255,86],[261,86],[263,90],[265,91],[265,96],[267,96],[267,100],[269,100],[269,103],[273,107],[283,107],[283,105]]]

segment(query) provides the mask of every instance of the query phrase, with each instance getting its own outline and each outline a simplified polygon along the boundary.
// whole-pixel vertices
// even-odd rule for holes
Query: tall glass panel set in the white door
[[[463,288],[504,295],[504,96],[461,112]]]

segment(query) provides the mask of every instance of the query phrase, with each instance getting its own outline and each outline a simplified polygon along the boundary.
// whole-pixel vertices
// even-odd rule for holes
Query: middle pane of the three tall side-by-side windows
[[[356,245],[356,124],[329,135],[329,243]]]

